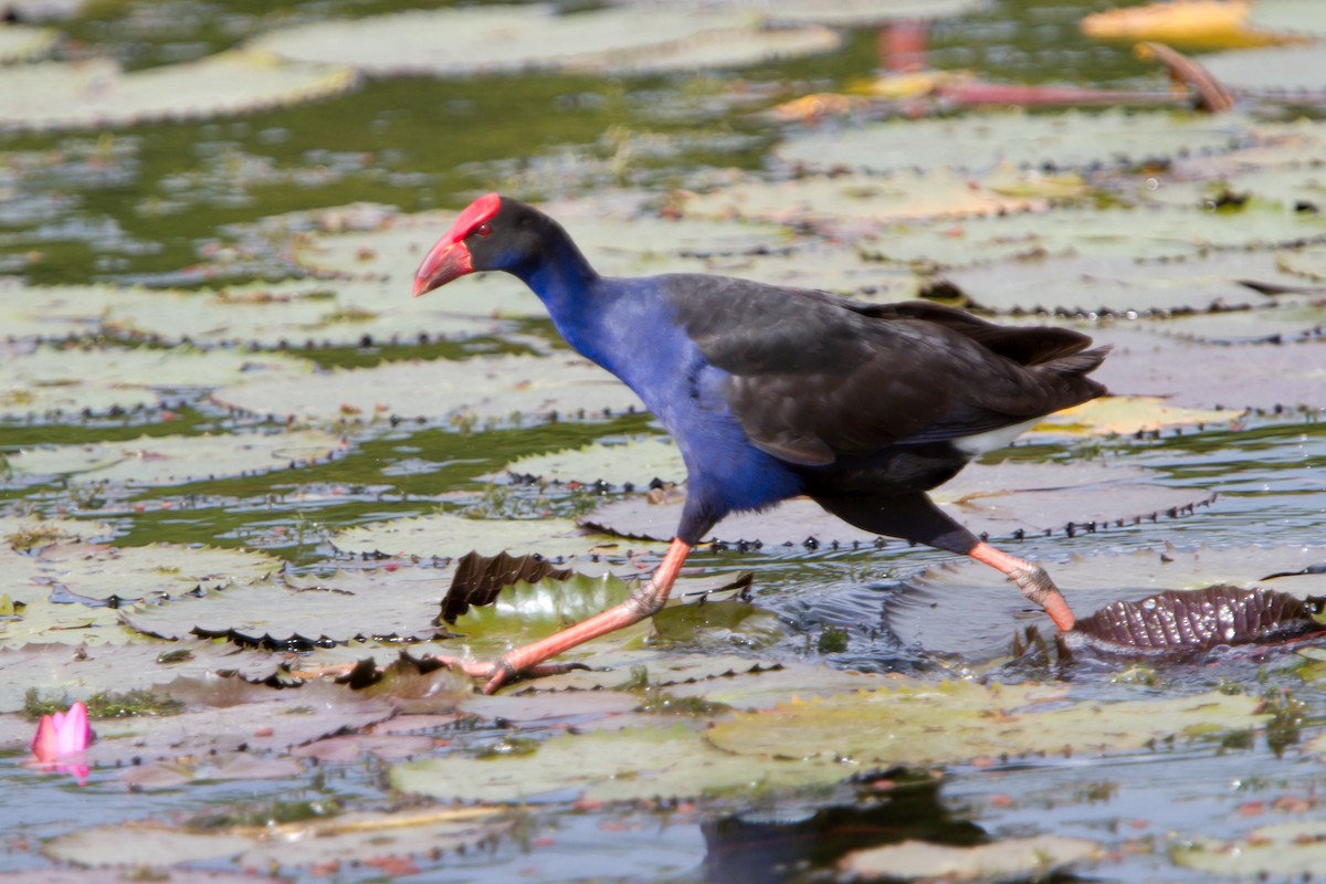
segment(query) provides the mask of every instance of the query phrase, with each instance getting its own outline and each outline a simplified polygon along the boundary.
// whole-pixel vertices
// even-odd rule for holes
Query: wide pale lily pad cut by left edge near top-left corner
[[[358,85],[345,66],[278,64],[252,49],[125,73],[113,61],[0,69],[0,127],[91,129],[255,113]]]

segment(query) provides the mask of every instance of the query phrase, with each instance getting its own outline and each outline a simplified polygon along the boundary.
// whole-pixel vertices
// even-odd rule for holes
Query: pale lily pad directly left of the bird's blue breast
[[[639,398],[578,358],[487,357],[465,362],[394,362],[304,378],[236,383],[212,394],[221,406],[301,423],[386,419],[467,421],[574,419],[643,410]]]

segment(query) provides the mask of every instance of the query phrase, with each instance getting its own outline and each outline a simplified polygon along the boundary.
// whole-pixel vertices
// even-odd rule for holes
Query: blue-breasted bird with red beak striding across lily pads
[[[704,273],[605,277],[554,219],[497,193],[465,207],[424,254],[414,294],[479,270],[528,285],[562,338],[640,398],[687,470],[675,537],[627,599],[496,660],[444,659],[484,692],[560,671],[552,657],[652,616],[723,517],[798,496],[867,531],[989,565],[1073,628],[1044,567],[979,539],[926,492],[1103,395],[1087,375],[1109,347],[934,301],[865,304]]]

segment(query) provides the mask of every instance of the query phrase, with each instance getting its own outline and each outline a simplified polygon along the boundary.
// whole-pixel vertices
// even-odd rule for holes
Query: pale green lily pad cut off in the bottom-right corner
[[[1220,877],[1311,876],[1326,863],[1326,822],[1299,819],[1258,826],[1233,840],[1197,838],[1171,851],[1174,861]]]

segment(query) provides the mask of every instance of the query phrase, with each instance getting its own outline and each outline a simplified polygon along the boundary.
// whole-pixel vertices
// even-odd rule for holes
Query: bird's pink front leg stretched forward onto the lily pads
[[[508,651],[496,661],[461,663],[448,657],[439,659],[447,661],[453,668],[461,669],[471,677],[487,679],[484,693],[492,693],[518,675],[560,672],[562,669],[560,667],[541,667],[540,664],[590,639],[597,639],[601,635],[607,635],[655,615],[667,602],[667,596],[672,591],[672,583],[676,582],[676,575],[682,570],[682,563],[686,562],[690,551],[690,543],[679,539],[672,541],[667,555],[663,557],[663,562],[654,570],[648,580],[631,592],[629,599],[556,635]]]

